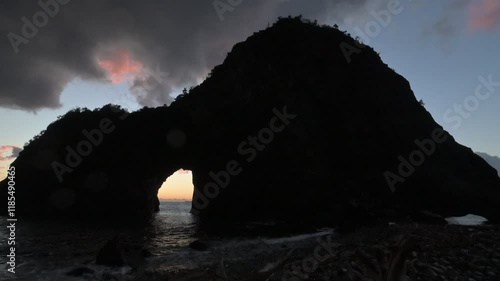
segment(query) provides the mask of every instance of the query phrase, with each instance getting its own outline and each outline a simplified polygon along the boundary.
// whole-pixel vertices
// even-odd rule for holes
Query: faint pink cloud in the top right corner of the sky
[[[478,0],[468,7],[467,29],[476,31],[500,27],[500,1]]]

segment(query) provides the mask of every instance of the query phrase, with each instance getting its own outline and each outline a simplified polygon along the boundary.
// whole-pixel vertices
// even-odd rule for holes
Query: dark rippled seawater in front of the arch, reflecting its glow
[[[191,202],[166,201],[160,203],[160,212],[143,222],[113,221],[74,223],[67,221],[36,221],[19,218],[16,223],[15,274],[7,271],[8,248],[6,227],[0,230],[0,280],[132,280],[135,274],[129,267],[109,268],[95,264],[96,255],[107,241],[118,236],[127,245],[146,248],[152,256],[147,258],[144,269],[172,271],[199,268],[213,264],[214,259],[231,262],[244,261],[262,253],[272,254],[283,244],[327,235],[331,230],[298,236],[221,236],[204,235],[197,231],[195,218],[189,213]],[[7,225],[6,217],[0,224]],[[265,222],[265,225],[272,222]],[[249,225],[253,229],[255,225]],[[208,251],[195,251],[189,244],[202,240]],[[66,273],[79,267],[94,273],[70,277]],[[106,277],[108,276],[108,277]],[[115,280],[115,279],[110,279]]]

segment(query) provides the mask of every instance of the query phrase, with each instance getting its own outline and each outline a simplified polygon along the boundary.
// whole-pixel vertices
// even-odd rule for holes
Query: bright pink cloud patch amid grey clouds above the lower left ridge
[[[99,66],[106,70],[112,83],[118,84],[127,79],[127,75],[136,75],[141,71],[141,62],[131,58],[129,52],[120,49],[106,57],[97,58]]]

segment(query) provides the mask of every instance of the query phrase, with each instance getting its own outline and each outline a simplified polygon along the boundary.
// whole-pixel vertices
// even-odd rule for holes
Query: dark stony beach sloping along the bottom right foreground
[[[117,280],[493,281],[500,278],[499,231],[498,225],[404,222],[265,245],[240,241],[186,250],[185,258],[193,260],[180,266],[157,256]]]

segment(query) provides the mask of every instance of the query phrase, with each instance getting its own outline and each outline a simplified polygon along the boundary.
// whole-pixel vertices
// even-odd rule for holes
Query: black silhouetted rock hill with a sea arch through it
[[[356,50],[350,63],[341,46]],[[281,19],[168,107],[127,114],[108,105],[51,124],[13,163],[17,211],[149,214],[183,168],[193,171],[202,221],[339,221],[353,208],[497,220],[496,171],[440,130],[372,48]]]

